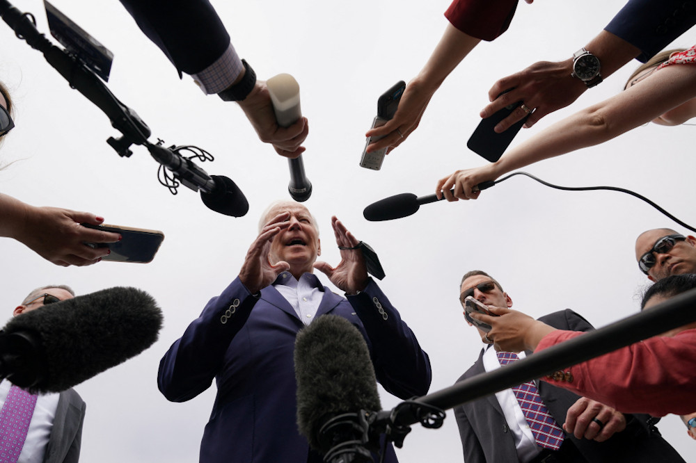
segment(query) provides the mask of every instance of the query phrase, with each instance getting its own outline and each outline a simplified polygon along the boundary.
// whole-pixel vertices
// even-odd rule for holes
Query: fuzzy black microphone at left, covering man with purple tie
[[[49,304],[0,332],[0,377],[32,393],[65,391],[143,352],[161,325],[155,300],[136,288]]]

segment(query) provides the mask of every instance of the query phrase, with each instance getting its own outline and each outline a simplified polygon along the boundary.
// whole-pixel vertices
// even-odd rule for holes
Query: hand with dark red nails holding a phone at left
[[[92,248],[85,243],[116,243],[118,233],[104,232],[80,225],[104,222],[93,213],[76,212],[56,207],[35,207],[25,204],[21,224],[13,235],[44,259],[58,266],[89,266],[109,254],[109,248]]]

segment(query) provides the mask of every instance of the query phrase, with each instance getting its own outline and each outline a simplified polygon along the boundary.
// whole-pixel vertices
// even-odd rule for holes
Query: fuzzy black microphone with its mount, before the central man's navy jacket
[[[361,332],[345,318],[321,316],[297,334],[294,362],[300,434],[326,462],[372,462],[368,449],[377,450],[379,436],[364,435],[364,412],[381,405]]]

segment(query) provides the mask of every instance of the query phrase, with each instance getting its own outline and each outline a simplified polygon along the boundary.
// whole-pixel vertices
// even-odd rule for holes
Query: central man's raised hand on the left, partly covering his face
[[[290,270],[290,264],[285,261],[272,263],[269,259],[271,243],[280,230],[290,226],[287,219],[290,213],[283,212],[275,216],[261,229],[261,233],[251,243],[246,252],[242,270],[239,270],[239,280],[252,294],[273,283],[285,270]]]

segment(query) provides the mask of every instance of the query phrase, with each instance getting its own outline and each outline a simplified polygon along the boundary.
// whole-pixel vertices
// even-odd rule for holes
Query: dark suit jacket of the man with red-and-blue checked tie
[[[539,320],[561,330],[594,330],[585,318],[569,309],[554,312]],[[458,382],[485,372],[483,353],[482,350],[475,364],[461,375]],[[539,383],[541,400],[557,423],[564,423],[567,410],[580,396],[544,381]],[[519,461],[514,436],[508,429],[503,409],[495,395],[459,405],[454,408],[454,415],[459,425],[466,463]],[[679,453],[667,444],[656,428],[647,424],[648,418],[649,415],[626,415],[626,429],[605,442],[576,439],[574,436],[566,436],[566,439],[571,439],[585,461],[591,463],[683,462]]]

